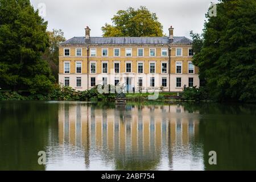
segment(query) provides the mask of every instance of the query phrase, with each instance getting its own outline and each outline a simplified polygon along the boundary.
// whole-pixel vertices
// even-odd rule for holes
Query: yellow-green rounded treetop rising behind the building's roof
[[[158,17],[144,6],[137,10],[132,7],[119,10],[112,18],[112,23],[113,25],[106,23],[101,28],[103,36],[163,36],[163,26],[158,21]]]

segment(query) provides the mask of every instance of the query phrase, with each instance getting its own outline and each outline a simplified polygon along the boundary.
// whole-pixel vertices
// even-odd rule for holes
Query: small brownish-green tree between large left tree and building
[[[49,38],[49,47],[44,52],[43,59],[49,63],[52,74],[57,81],[59,79],[59,48],[58,45],[64,42],[64,33],[62,30],[47,31]]]

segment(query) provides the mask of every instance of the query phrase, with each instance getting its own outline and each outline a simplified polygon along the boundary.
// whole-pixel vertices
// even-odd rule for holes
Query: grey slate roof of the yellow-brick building
[[[91,37],[86,42],[85,37],[74,37],[69,39],[60,45],[66,44],[170,44],[170,40],[167,36],[164,37]],[[172,44],[191,44],[192,40],[185,38],[184,36],[175,36]]]

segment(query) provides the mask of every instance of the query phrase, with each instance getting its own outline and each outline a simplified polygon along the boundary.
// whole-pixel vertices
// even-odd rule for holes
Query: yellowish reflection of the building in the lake
[[[113,163],[112,169],[158,169],[166,162],[174,169],[177,156],[198,155],[191,147],[199,133],[198,117],[179,105],[102,109],[61,104],[59,143],[83,148],[86,169],[96,155]]]

